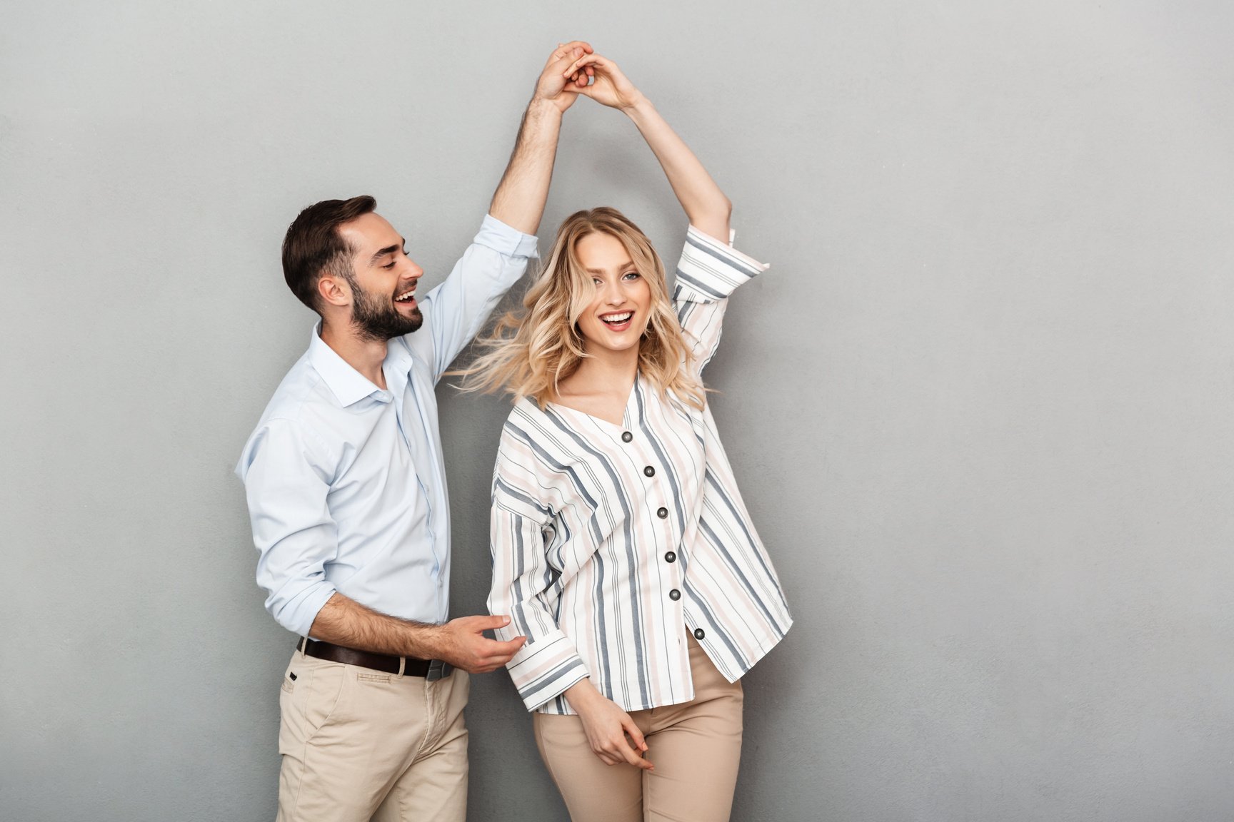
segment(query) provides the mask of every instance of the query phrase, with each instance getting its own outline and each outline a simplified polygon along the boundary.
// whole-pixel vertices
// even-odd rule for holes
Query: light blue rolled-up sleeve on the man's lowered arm
[[[265,610],[300,636],[308,636],[336,590],[325,572],[338,553],[338,530],[322,462],[311,435],[290,420],[271,419],[253,433],[236,468],[260,552],[257,584],[267,593]]]

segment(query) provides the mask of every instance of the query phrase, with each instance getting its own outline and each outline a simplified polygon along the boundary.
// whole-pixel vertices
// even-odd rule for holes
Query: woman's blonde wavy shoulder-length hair
[[[690,371],[694,357],[669,298],[664,264],[652,242],[616,208],[579,211],[561,223],[553,251],[523,296],[522,311],[511,311],[492,332],[476,341],[481,354],[463,375],[463,391],[506,391],[515,402],[532,397],[540,408],[557,397],[557,388],[589,355],[579,332],[579,317],[591,303],[595,283],[579,262],[579,240],[610,234],[629,254],[652,290],[650,318],[638,346],[643,377],[668,399],[669,392],[701,409],[703,387]],[[486,349],[486,350],[485,350]]]

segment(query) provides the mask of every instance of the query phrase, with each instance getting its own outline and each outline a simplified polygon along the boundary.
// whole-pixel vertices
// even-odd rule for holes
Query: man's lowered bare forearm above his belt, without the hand
[[[310,635],[348,648],[395,657],[432,659],[439,651],[439,625],[426,625],[379,614],[334,593],[312,621]]]

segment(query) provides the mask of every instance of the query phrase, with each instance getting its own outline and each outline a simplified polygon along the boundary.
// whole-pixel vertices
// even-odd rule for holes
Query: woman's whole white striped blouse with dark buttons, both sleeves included
[[[674,303],[701,371],[727,297],[766,266],[694,227]],[[528,710],[573,714],[590,677],[627,711],[694,699],[686,631],[737,680],[792,619],[711,409],[639,376],[621,425],[521,401],[492,483],[489,611],[527,643],[507,665]]]

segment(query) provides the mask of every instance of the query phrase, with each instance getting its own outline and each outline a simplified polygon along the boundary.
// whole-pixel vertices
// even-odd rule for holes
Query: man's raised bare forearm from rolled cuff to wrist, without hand
[[[490,214],[524,234],[536,233],[548,200],[560,132],[561,110],[549,100],[532,97],[510,164],[492,195]]]

